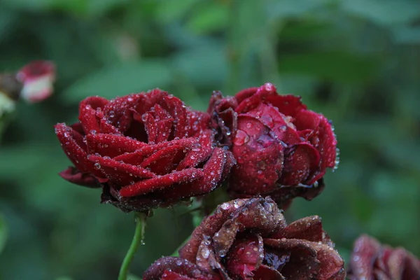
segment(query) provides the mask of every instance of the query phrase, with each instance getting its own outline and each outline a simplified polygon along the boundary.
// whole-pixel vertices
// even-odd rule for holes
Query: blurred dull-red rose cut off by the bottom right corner
[[[418,280],[420,260],[404,248],[362,235],[354,242],[348,270],[351,280]]]

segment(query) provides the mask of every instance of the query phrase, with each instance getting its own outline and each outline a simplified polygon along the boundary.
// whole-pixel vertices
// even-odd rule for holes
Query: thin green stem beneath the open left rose
[[[127,280],[127,275],[131,262],[134,258],[134,254],[136,253],[137,248],[139,248],[139,245],[143,242],[144,227],[146,226],[146,214],[137,212],[135,215],[136,230],[134,232],[132,244],[130,245],[130,248],[128,248],[127,254],[123,260],[123,264],[121,265],[118,280]]]

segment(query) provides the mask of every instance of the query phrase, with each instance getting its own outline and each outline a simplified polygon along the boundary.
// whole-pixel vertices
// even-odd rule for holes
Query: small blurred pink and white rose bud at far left
[[[23,84],[21,97],[29,102],[40,102],[50,97],[55,81],[55,65],[37,60],[22,67],[16,75]]]

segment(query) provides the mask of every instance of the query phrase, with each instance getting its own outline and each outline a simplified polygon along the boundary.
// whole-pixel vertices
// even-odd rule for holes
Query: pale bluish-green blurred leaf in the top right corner
[[[420,15],[419,1],[351,0],[342,1],[342,9],[378,25],[402,25]]]

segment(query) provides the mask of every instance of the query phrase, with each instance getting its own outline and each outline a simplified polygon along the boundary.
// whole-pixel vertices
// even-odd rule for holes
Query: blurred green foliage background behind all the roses
[[[194,109],[267,81],[301,95],[333,120],[342,162],[290,221],[322,216],[346,258],[362,232],[420,255],[420,1],[0,0],[0,71],[31,59],[57,64],[56,91],[3,134],[1,280],[116,279],[134,219],[57,176],[70,162],[52,126],[83,97],[154,87]],[[155,211],[134,274],[189,235],[188,210]]]

